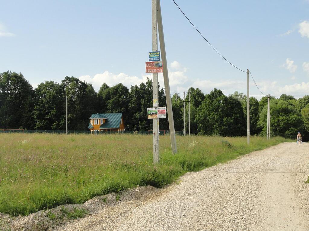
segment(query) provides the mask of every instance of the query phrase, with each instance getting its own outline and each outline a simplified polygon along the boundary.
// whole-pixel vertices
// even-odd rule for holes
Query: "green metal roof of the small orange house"
[[[106,119],[105,123],[100,126],[100,128],[119,128],[121,122],[122,113],[103,113],[103,114],[92,114],[91,119]],[[88,129],[92,129],[93,126],[89,122]]]

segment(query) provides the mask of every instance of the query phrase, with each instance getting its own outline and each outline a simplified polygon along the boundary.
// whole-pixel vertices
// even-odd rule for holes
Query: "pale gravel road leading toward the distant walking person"
[[[309,230],[308,157],[307,143],[278,144],[164,189],[139,187],[56,230]]]

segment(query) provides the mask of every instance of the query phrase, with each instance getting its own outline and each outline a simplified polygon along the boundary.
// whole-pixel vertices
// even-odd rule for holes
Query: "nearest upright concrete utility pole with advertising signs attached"
[[[151,0],[152,11],[152,51],[158,51],[157,0]],[[158,73],[152,73],[152,107],[159,107]],[[159,119],[153,119],[154,164],[159,162]]]

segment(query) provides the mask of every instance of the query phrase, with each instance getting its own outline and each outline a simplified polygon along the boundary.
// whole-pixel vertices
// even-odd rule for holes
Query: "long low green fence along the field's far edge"
[[[62,130],[22,130],[22,129],[7,129],[0,130],[0,133],[52,133],[52,134],[66,134],[66,131]],[[91,135],[108,135],[108,134],[132,134],[132,135],[152,135],[152,131],[68,131],[68,134],[91,134]],[[169,131],[162,130],[160,135],[169,135]],[[176,135],[183,135],[182,131],[175,131]]]

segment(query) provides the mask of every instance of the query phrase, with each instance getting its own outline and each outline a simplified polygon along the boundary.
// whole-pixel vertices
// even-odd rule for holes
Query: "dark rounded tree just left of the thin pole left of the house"
[[[54,81],[40,83],[35,89],[34,129],[65,129],[65,89]]]

